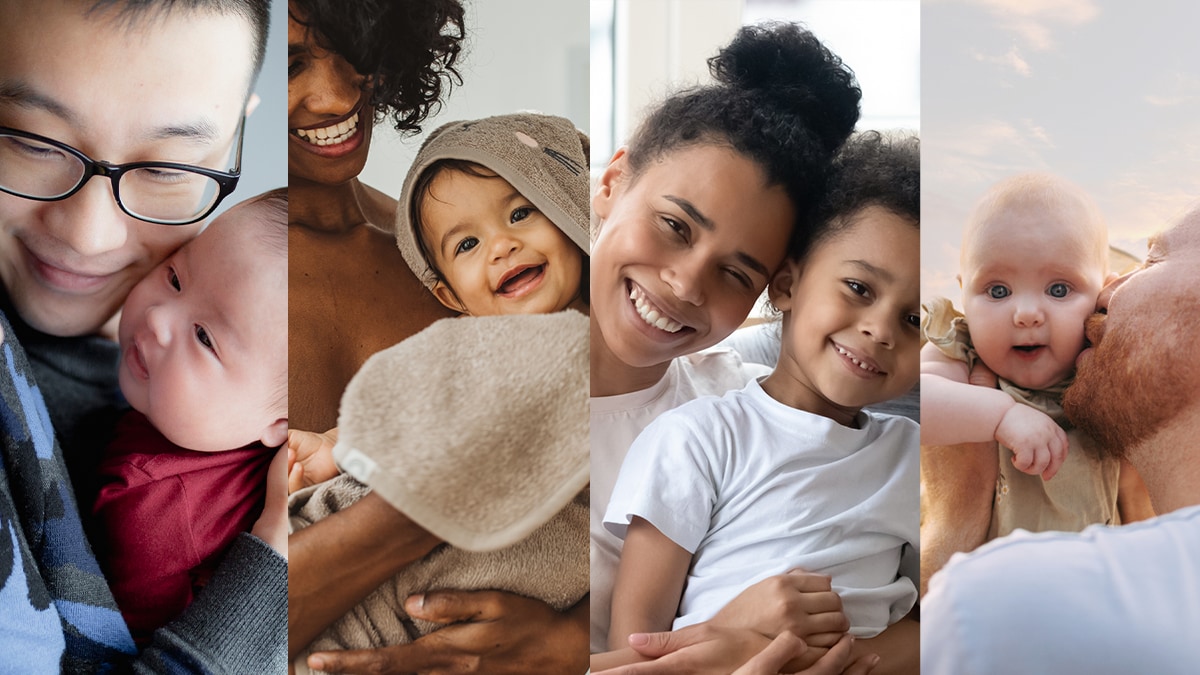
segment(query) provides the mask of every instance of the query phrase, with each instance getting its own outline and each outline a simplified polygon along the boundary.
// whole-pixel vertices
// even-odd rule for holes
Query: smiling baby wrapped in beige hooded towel
[[[587,138],[562,118],[452,123],[404,183],[397,244],[467,317],[364,364],[332,435],[289,434],[304,527],[368,490],[450,545],[406,567],[307,653],[408,643],[432,589],[504,590],[557,610],[588,592]],[[332,480],[337,465],[346,474]],[[433,478],[436,476],[437,478]],[[324,480],[324,482],[322,482]],[[503,550],[502,550],[503,549]]]

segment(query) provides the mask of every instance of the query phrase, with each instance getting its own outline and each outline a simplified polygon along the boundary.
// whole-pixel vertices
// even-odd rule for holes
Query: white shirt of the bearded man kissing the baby
[[[1200,506],[956,554],[922,603],[926,675],[1196,673]]]

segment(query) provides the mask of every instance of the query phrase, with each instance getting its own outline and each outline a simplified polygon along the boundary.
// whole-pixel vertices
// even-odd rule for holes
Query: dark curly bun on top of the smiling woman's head
[[[836,150],[858,121],[863,94],[853,71],[798,24],[743,26],[708,68],[726,86],[802,118],[827,151]]]

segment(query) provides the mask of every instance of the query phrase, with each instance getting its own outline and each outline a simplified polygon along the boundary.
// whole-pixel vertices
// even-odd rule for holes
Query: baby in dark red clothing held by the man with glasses
[[[133,407],[100,467],[97,557],[134,640],[184,610],[263,510],[287,438],[287,190],[222,214],[130,292]]]

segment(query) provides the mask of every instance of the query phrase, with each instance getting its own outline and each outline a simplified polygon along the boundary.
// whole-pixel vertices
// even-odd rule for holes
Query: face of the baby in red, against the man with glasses
[[[121,392],[184,448],[275,440],[281,419],[287,432],[287,411],[270,410],[288,365],[287,261],[254,217],[256,207],[218,217],[134,286],[121,313]]]

